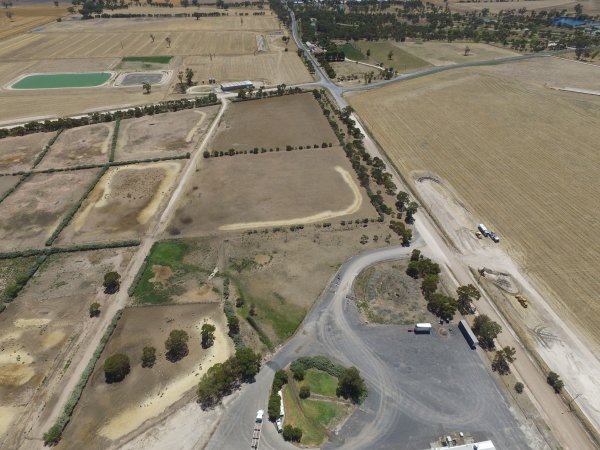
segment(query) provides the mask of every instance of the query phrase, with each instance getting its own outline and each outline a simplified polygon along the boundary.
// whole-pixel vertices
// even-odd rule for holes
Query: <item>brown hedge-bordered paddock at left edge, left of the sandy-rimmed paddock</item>
[[[32,175],[0,204],[0,250],[40,248],[97,169]]]

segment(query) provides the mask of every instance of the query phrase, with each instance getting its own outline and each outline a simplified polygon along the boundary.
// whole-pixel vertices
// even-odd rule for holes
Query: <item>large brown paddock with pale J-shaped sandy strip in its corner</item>
[[[350,186],[336,167],[348,174]],[[219,227],[307,223],[306,216],[321,213],[318,221],[374,217],[375,210],[351,171],[336,147],[210,158],[190,179],[169,230],[193,236]]]

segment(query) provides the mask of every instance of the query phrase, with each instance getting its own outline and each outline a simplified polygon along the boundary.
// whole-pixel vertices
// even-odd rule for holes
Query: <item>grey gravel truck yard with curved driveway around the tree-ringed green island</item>
[[[354,302],[347,299],[356,276],[373,264],[407,258],[410,251],[372,250],[346,262],[297,334],[255,383],[228,402],[207,448],[248,447],[256,411],[266,409],[274,372],[300,356],[317,354],[358,367],[369,388],[365,403],[329,447],[426,448],[438,435],[462,430],[492,437],[500,448],[544,448],[523,434],[480,356],[456,331],[447,338],[414,336],[406,327],[359,322]],[[260,448],[295,447],[266,423]]]

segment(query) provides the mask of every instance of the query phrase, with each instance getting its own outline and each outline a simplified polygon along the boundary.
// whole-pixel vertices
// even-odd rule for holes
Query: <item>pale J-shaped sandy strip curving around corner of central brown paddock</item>
[[[341,167],[336,166],[336,167],[334,167],[334,170],[342,176],[342,179],[348,185],[348,187],[352,191],[352,194],[354,195],[354,200],[347,208],[338,210],[338,211],[330,211],[330,210],[323,211],[323,212],[320,212],[317,214],[313,214],[311,216],[296,217],[294,219],[272,220],[272,221],[265,221],[265,222],[234,223],[234,224],[230,224],[230,225],[223,225],[223,226],[219,227],[219,230],[233,231],[233,230],[244,230],[247,228],[280,227],[280,226],[294,225],[294,224],[298,224],[298,223],[302,223],[302,224],[315,223],[315,222],[322,222],[322,221],[325,221],[328,219],[334,219],[336,217],[350,216],[350,215],[358,212],[358,210],[360,210],[360,207],[362,206],[362,202],[363,202],[363,198],[360,193],[360,188],[358,187],[358,185],[356,184],[356,182],[354,181],[354,179],[352,178],[352,176],[346,169],[342,169]]]

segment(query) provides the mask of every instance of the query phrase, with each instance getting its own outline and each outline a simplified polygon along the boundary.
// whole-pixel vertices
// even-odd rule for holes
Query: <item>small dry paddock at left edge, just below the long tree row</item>
[[[27,171],[54,133],[0,139],[0,173]]]

